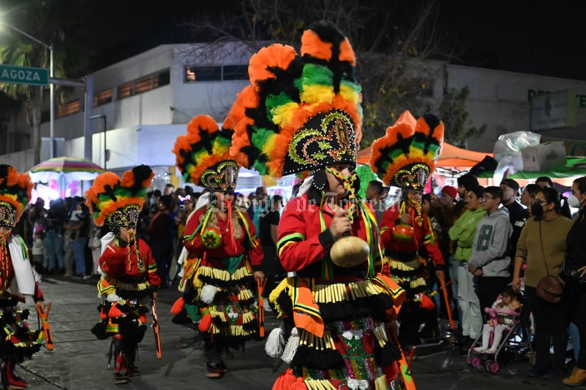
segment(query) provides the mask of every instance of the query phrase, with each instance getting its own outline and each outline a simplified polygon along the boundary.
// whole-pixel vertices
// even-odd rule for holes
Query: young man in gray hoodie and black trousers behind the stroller
[[[502,200],[500,187],[486,187],[482,208],[486,215],[478,221],[472,244],[468,270],[478,276],[477,293],[480,307],[491,307],[503,288],[511,281],[509,272],[509,239],[513,226],[507,208],[499,208]]]

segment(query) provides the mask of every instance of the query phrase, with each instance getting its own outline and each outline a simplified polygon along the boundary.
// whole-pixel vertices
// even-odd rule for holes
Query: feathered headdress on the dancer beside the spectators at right
[[[384,137],[372,143],[370,166],[386,185],[422,190],[434,173],[443,143],[443,122],[433,114],[415,120],[404,111]]]

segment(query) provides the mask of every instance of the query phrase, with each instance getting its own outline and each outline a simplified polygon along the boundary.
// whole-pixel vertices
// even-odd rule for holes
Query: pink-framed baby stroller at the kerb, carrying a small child
[[[520,361],[523,356],[528,356],[530,363],[533,365],[535,363],[535,357],[531,345],[531,312],[528,309],[528,305],[523,305],[520,312],[488,307],[484,311],[490,315],[493,329],[496,329],[496,325],[498,325],[499,313],[512,316],[513,324],[510,327],[505,325],[505,328],[502,330],[503,333],[500,343],[492,347],[494,350],[488,350],[486,352],[478,352],[475,350],[475,348],[482,345],[482,334],[480,334],[470,346],[466,362],[473,367],[478,367],[480,364],[483,364],[489,373],[497,373],[500,366],[504,366],[510,362]],[[493,344],[493,338],[494,330],[491,331],[490,345]]]

